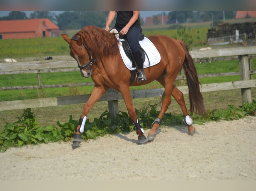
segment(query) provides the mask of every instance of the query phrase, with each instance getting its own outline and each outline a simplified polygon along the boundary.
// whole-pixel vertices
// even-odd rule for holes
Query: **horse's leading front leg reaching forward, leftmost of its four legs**
[[[94,86],[94,89],[92,91],[90,98],[84,105],[82,115],[79,119],[79,123],[78,123],[77,127],[75,128],[76,134],[73,137],[73,144],[72,144],[73,149],[77,148],[79,146],[80,142],[82,142],[82,134],[81,133],[84,132],[87,114],[91,110],[92,106],[100,99],[100,97],[103,94],[105,94],[107,92],[108,89],[109,89],[109,87],[104,86],[104,85],[97,86],[97,87]]]

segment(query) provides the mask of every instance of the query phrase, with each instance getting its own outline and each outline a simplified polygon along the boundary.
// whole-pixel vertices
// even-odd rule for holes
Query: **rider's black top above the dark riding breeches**
[[[133,16],[133,11],[117,11],[117,18],[115,27],[124,28]],[[132,26],[140,27],[140,15]]]

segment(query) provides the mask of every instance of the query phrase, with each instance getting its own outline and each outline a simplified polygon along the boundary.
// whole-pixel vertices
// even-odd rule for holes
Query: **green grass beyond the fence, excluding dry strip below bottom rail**
[[[227,21],[228,22],[228,21]],[[190,46],[205,46],[207,42],[206,34],[209,28],[209,22],[203,23],[187,23],[181,24],[191,28],[194,43]],[[163,34],[170,37],[176,37],[176,30],[169,30],[171,25],[164,26],[143,26],[145,36]],[[144,30],[145,29],[145,30]],[[66,30],[61,33],[74,35],[78,30]],[[33,38],[33,39],[6,39],[0,41],[0,59],[3,58],[19,58],[48,56],[48,55],[69,55],[69,46],[62,39],[56,38]],[[255,59],[253,59],[255,63]],[[1,62],[1,61],[0,61]],[[224,72],[238,72],[238,60],[219,61],[211,63],[195,63],[198,74],[213,74]],[[62,72],[62,73],[42,73],[42,85],[51,84],[68,84],[92,82],[91,78],[85,79],[81,77],[80,72]],[[229,82],[240,80],[239,76],[212,77],[200,79],[202,84]],[[38,85],[37,74],[16,74],[16,75],[0,75],[0,87],[10,86],[33,86]],[[131,87],[131,90],[162,88],[158,82],[152,82],[148,85]],[[73,88],[49,88],[43,89],[42,95],[38,95],[37,90],[12,90],[0,91],[0,101],[29,99],[38,97],[55,97],[77,94],[90,94],[93,86],[73,87]]]

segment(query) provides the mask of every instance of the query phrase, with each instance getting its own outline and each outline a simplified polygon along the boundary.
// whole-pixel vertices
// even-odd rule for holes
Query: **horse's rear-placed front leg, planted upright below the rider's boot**
[[[120,90],[120,93],[123,96],[125,105],[127,107],[127,111],[128,114],[130,116],[130,118],[133,121],[133,125],[135,127],[136,133],[138,135],[138,140],[137,140],[137,144],[145,144],[148,142],[148,139],[146,138],[146,136],[144,135],[144,130],[141,126],[141,123],[139,121],[139,119],[137,118],[137,114],[135,112],[134,106],[132,104],[132,96],[131,96],[131,92],[128,87],[122,87]]]

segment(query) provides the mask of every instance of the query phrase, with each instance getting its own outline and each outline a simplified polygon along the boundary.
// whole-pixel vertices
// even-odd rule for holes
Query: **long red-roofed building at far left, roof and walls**
[[[59,27],[47,18],[0,21],[0,39],[58,36]]]

